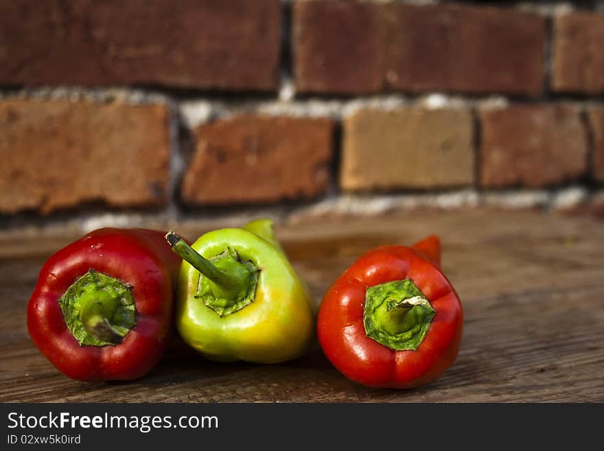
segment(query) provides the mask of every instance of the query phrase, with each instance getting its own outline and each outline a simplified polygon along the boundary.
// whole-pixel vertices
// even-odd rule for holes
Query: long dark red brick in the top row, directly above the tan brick
[[[354,1],[294,4],[299,91],[537,95],[544,19],[507,8]]]

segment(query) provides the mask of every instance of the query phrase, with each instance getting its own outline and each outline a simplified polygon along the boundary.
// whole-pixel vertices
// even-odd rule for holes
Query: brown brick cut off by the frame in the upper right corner
[[[555,18],[552,85],[561,92],[604,92],[604,14]]]

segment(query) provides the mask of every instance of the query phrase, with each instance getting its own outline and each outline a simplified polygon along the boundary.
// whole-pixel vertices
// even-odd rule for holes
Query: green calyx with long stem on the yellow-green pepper
[[[237,312],[253,302],[258,270],[252,262],[242,263],[231,248],[210,261],[173,231],[165,239],[172,251],[204,276],[200,278],[196,297],[220,316]]]

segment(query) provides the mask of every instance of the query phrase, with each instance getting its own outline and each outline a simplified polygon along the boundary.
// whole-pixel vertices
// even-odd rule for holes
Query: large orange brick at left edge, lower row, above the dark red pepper
[[[167,107],[0,101],[0,212],[164,205]]]

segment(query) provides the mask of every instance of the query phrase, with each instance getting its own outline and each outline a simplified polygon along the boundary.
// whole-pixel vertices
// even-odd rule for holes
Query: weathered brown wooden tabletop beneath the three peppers
[[[353,259],[377,244],[443,242],[461,296],[461,352],[439,380],[374,390],[336,371],[318,345],[283,365],[216,364],[174,340],[135,382],[69,380],[27,335],[25,308],[44,260],[73,236],[0,238],[2,402],[602,402],[604,223],[534,211],[413,211],[278,227],[318,303]],[[186,231],[196,236],[202,227]],[[6,236],[6,233],[4,233]]]

